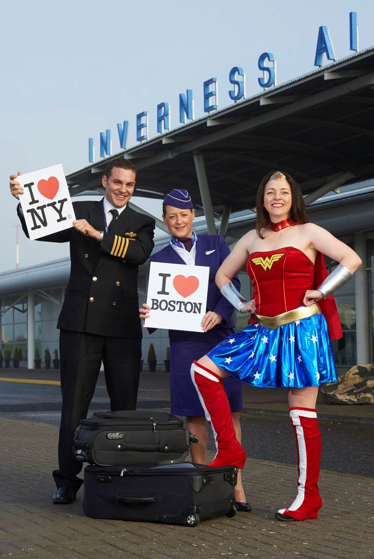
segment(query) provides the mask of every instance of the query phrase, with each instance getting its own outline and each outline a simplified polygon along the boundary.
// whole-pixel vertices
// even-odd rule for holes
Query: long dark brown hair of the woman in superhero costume
[[[269,229],[270,225],[270,216],[268,211],[265,209],[264,206],[264,192],[266,184],[269,182],[270,177],[276,173],[277,171],[271,171],[267,173],[264,178],[262,179],[260,186],[258,187],[257,191],[257,199],[256,199],[256,211],[257,211],[257,220],[256,220],[256,231],[257,235],[263,239],[263,235],[261,234],[262,229]],[[308,216],[306,214],[306,207],[304,198],[302,197],[302,192],[300,190],[299,184],[295,181],[290,174],[284,173],[280,171],[282,174],[285,175],[288,184],[291,187],[291,197],[292,197],[292,204],[291,204],[291,211],[290,211],[290,219],[292,221],[296,221],[297,223],[307,223],[309,221]]]

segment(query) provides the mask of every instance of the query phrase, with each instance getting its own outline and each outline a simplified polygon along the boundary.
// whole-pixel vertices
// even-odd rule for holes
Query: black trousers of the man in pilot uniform
[[[74,431],[87,417],[101,362],[111,410],[135,410],[139,386],[141,338],[111,338],[69,330],[60,331],[61,423],[57,487],[78,491],[82,463],[73,456]]]

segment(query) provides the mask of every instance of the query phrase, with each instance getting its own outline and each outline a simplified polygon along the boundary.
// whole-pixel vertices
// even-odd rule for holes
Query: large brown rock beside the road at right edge
[[[374,364],[355,365],[321,390],[325,404],[374,404]]]

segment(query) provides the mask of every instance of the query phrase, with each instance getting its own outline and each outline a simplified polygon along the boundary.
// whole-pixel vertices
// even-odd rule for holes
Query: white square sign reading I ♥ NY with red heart
[[[20,202],[30,239],[72,227],[75,215],[61,164],[21,175],[17,181],[23,186]]]

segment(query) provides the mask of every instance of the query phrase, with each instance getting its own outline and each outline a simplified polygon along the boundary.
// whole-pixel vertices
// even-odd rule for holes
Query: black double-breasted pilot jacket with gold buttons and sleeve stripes
[[[155,221],[132,210],[121,212],[105,232],[103,201],[73,202],[76,219],[104,231],[100,244],[74,228],[38,240],[70,243],[70,278],[57,328],[120,338],[141,338],[138,268],[154,247]],[[22,229],[25,220],[17,208]]]

